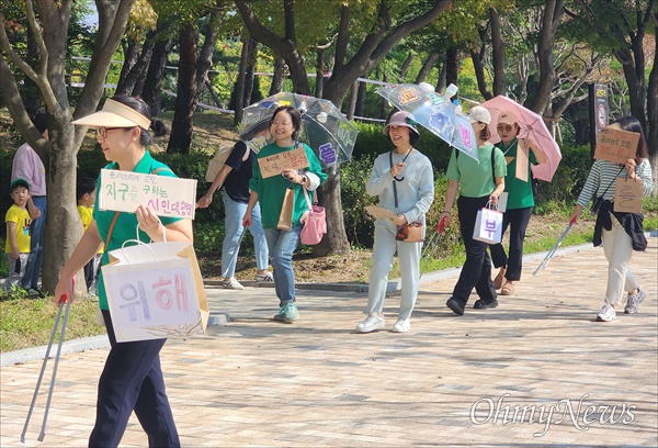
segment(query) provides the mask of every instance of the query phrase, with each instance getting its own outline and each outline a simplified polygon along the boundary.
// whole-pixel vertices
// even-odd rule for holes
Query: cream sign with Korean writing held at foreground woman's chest
[[[97,199],[100,210],[134,213],[148,205],[158,216],[194,220],[196,180],[102,169]]]

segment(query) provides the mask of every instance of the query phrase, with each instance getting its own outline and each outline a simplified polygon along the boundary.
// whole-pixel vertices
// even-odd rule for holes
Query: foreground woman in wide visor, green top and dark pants
[[[156,135],[164,135],[167,127],[159,120],[151,121],[150,109],[143,100],[115,96],[105,101],[102,111],[76,120],[73,124],[98,128],[101,150],[112,161],[106,169],[175,177],[169,167],[154,160],[146,149],[152,141],[149,130],[152,128]],[[102,191],[100,178],[98,190]],[[93,221],[61,269],[55,287],[56,302],[65,295],[71,301],[71,278],[93,258],[103,242],[106,243],[102,261],[105,265],[110,250],[121,248],[126,240],[135,238],[136,227],[144,243],[168,240],[191,244],[193,238],[191,220],[159,219],[150,206],[144,205],[139,205],[135,213],[101,211],[97,201]],[[180,447],[160,368],[160,349],[167,339],[117,343],[102,276],[101,271],[99,306],[112,348],[99,379],[97,418],[89,446],[118,446],[135,411],[150,446]]]

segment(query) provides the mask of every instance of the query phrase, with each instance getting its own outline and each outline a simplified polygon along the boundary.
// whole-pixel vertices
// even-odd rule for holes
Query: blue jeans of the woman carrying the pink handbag
[[[265,238],[272,256],[274,268],[274,290],[279,298],[279,306],[295,302],[295,271],[293,271],[293,253],[299,243],[302,225],[292,231],[265,228]]]

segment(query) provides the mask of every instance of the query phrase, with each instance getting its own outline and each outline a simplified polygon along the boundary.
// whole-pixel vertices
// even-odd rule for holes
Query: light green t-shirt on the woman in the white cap
[[[479,164],[465,154],[457,157],[455,153],[458,149],[453,150],[445,175],[450,180],[460,182],[460,194],[467,198],[481,198],[491,194],[496,190],[496,182],[491,175],[491,148],[494,148],[492,144],[478,148]],[[496,177],[507,175],[504,156],[498,148],[494,149],[494,166]]]

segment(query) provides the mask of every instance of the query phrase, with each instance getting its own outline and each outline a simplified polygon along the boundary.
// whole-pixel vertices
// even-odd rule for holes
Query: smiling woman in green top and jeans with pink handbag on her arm
[[[281,176],[263,178],[259,164],[254,163],[249,181],[251,194],[242,217],[245,227],[251,225],[253,208],[260,203],[261,224],[265,231],[265,239],[272,257],[274,289],[279,298],[279,306],[281,306],[279,313],[274,315],[274,320],[286,323],[299,318],[299,312],[295,304],[293,253],[297,248],[302,232],[299,219],[308,210],[303,189],[313,191],[327,180],[327,175],[322,172],[320,161],[313,149],[297,142],[300,126],[302,117],[295,108],[290,105],[276,108],[270,120],[270,132],[274,136],[274,143],[265,145],[258,154],[258,159],[295,149],[300,145],[306,152],[309,167],[305,172],[284,169]],[[277,228],[277,224],[288,189],[294,191],[294,205],[291,228],[286,231]]]

